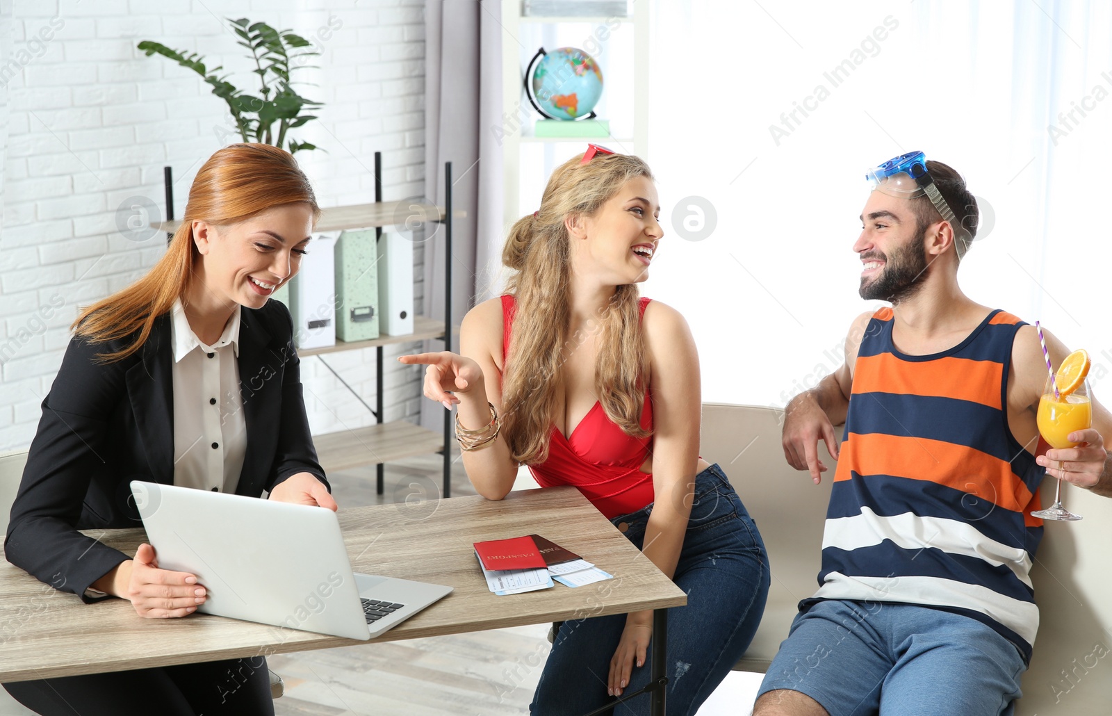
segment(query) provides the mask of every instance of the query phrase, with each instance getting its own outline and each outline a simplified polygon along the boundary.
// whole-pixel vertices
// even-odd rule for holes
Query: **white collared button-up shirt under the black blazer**
[[[181,301],[173,304],[173,484],[235,493],[247,453],[239,392],[240,307],[212,346],[197,338]]]

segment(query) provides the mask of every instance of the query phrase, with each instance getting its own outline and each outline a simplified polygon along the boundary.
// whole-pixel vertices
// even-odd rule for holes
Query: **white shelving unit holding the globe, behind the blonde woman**
[[[538,119],[536,111],[529,106],[525,97],[525,66],[520,52],[532,54],[535,47],[526,48],[522,44],[525,34],[535,34],[534,28],[545,24],[583,24],[595,29],[592,36],[597,37],[599,26],[609,30],[609,24],[615,21],[620,23],[622,31],[627,28],[633,29],[633,62],[638,71],[633,72],[633,77],[610,76],[606,73],[607,62],[599,60],[603,67],[604,80],[607,84],[612,82],[628,82],[633,86],[633,131],[627,133],[610,135],[609,137],[585,138],[585,137],[536,137],[533,132],[532,122]],[[626,17],[600,17],[600,16],[525,16],[522,14],[522,0],[502,0],[500,23],[505,29],[503,37],[502,73],[503,73],[503,116],[507,118],[529,118],[516,130],[507,130],[503,137],[503,225],[513,226],[522,216],[528,213],[536,207],[527,208],[520,206],[522,177],[546,173],[545,167],[523,166],[522,145],[572,145],[575,150],[585,148],[587,142],[597,142],[609,147],[616,151],[629,152],[645,158],[648,151],[648,2],[638,0],[631,3],[631,14]],[[614,30],[613,32],[617,32]],[[516,42],[514,40],[517,40]],[[554,49],[554,48],[546,48]],[[584,48],[580,48],[584,49]],[[603,95],[606,96],[604,86]],[[603,118],[605,119],[605,118]],[[607,145],[607,141],[610,143]]]

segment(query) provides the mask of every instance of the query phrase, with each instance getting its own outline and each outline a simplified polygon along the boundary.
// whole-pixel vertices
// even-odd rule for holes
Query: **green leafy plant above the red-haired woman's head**
[[[143,40],[139,49],[147,57],[158,53],[189,68],[212,86],[212,93],[228,103],[239,136],[245,142],[261,142],[282,147],[294,153],[301,149],[317,149],[309,142],[299,142],[287,137],[290,129],[317,119],[316,115],[302,115],[302,110],[322,107],[298,95],[292,88],[290,74],[298,69],[314,67],[306,64],[308,58],[320,54],[305,38],[290,30],[275,30],[266,22],[250,22],[246,18],[228,20],[231,30],[239,36],[238,44],[250,51],[255,63],[255,74],[259,76],[259,93],[249,95],[227,80],[227,74],[217,72],[222,66],[211,69],[205,66],[205,58],[196,52],[173,50],[151,40]],[[306,49],[308,48],[308,49]]]

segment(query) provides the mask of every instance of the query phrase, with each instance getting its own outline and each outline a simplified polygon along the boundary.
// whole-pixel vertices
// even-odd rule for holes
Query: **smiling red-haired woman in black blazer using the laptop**
[[[146,618],[181,617],[206,598],[193,575],[159,569],[150,545],[129,558],[78,531],[140,526],[131,480],[336,509],[292,321],[269,300],[319,213],[281,149],[232,145],[201,167],[162,259],[73,324],[12,505],[10,563],[86,603],[117,596]],[[40,714],[274,714],[261,657],[4,688]]]

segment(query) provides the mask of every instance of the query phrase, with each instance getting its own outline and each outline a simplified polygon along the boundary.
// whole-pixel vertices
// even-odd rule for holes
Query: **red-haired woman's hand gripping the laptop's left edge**
[[[196,576],[159,569],[155,548],[146,543],[139,545],[135,559],[121,563],[93,586],[130,600],[136,613],[146,619],[183,617],[196,611],[206,599],[205,587],[197,584]]]

